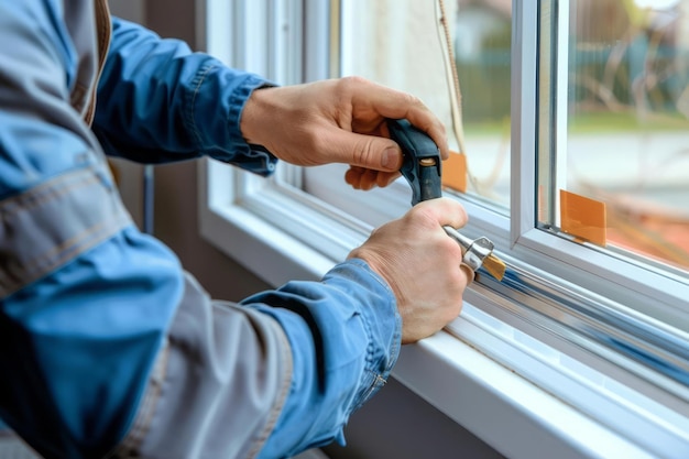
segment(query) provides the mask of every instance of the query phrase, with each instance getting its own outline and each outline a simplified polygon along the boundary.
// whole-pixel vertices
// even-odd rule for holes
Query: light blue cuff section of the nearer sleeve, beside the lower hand
[[[349,416],[385,383],[400,353],[402,319],[387,284],[353,259],[320,283],[291,282],[243,304],[275,317],[294,354],[291,392],[260,458],[343,444]]]

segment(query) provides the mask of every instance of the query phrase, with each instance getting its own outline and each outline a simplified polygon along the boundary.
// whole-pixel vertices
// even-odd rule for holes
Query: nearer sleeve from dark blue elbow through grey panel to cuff
[[[3,316],[4,343],[32,352],[0,359],[2,416],[45,457],[272,458],[341,440],[400,348],[392,294],[361,262],[221,304],[133,228],[6,297]]]

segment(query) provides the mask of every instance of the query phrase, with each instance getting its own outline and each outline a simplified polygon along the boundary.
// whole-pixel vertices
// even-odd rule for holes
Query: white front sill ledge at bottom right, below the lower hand
[[[447,331],[404,347],[393,375],[510,458],[655,457]]]

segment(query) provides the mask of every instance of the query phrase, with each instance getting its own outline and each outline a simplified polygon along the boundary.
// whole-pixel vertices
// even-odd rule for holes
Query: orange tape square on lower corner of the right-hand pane
[[[560,189],[560,226],[575,238],[605,247],[605,203]]]

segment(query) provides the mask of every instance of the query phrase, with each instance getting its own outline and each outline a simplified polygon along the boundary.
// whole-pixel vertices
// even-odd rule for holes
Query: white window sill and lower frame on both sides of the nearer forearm
[[[243,183],[244,176],[234,182],[214,176],[218,170],[228,174],[227,167],[201,163],[201,233],[273,286],[319,280],[365,238],[341,215],[332,220],[321,203],[314,207],[308,195],[269,181],[256,186]],[[513,458],[686,457],[689,418],[665,408],[653,424],[644,409],[647,401],[634,400],[621,384],[603,387],[605,378],[592,383],[601,380],[595,370],[557,357],[561,349],[505,331],[513,327],[486,314],[486,302],[475,287],[468,291],[462,315],[447,330],[403,348],[395,379]],[[604,404],[598,406],[599,401]]]

